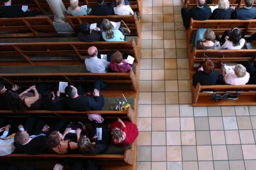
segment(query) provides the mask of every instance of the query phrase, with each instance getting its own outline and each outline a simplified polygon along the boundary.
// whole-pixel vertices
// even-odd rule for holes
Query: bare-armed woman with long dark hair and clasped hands
[[[34,93],[29,92],[31,90]],[[19,95],[13,91],[7,91],[6,103],[8,108],[15,113],[21,113],[27,109],[38,110],[41,109],[41,95],[38,93],[35,85],[33,85]]]

